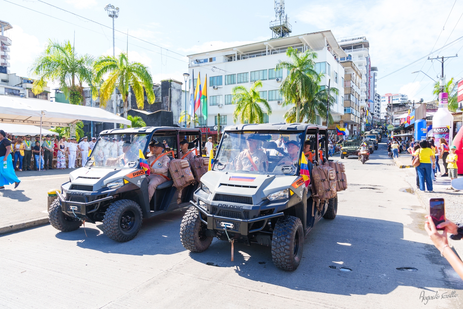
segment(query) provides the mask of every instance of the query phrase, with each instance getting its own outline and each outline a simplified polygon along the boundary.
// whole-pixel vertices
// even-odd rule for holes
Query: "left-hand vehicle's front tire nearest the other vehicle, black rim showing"
[[[109,204],[103,217],[103,232],[112,240],[125,242],[137,236],[142,227],[142,209],[131,200]]]

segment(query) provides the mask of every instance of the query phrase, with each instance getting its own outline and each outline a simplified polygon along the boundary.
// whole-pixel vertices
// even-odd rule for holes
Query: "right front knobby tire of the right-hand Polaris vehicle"
[[[272,260],[284,271],[294,271],[299,266],[304,247],[304,231],[300,219],[280,217],[272,236]]]

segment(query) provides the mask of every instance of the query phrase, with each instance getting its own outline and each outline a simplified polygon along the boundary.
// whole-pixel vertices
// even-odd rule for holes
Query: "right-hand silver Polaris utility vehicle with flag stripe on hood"
[[[314,161],[326,160],[327,133],[325,126],[297,123],[225,127],[212,170],[201,178],[181,222],[182,245],[202,252],[217,237],[271,246],[274,264],[295,270],[304,237],[322,217],[334,219],[338,209],[337,197],[317,208],[300,176],[304,145],[310,145]],[[311,171],[312,163],[307,165]]]

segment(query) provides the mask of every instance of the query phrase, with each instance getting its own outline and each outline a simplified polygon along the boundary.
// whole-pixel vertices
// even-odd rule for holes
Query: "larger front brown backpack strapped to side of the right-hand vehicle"
[[[327,165],[316,164],[312,170],[314,196],[321,201],[329,200],[336,195],[336,170]]]

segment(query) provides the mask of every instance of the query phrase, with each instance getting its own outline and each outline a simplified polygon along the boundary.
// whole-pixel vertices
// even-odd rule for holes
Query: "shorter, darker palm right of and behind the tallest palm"
[[[338,95],[339,90],[337,88],[330,88],[330,107],[335,101],[334,95]],[[286,122],[302,123],[304,118],[307,117],[306,123],[315,123],[317,120],[317,113],[323,119],[326,119],[326,98],[328,96],[328,88],[319,90],[313,97],[310,98],[310,101],[302,103],[300,107],[299,118],[296,117],[296,106],[291,107],[283,115]],[[328,123],[333,122],[333,117],[331,113],[328,113]]]

